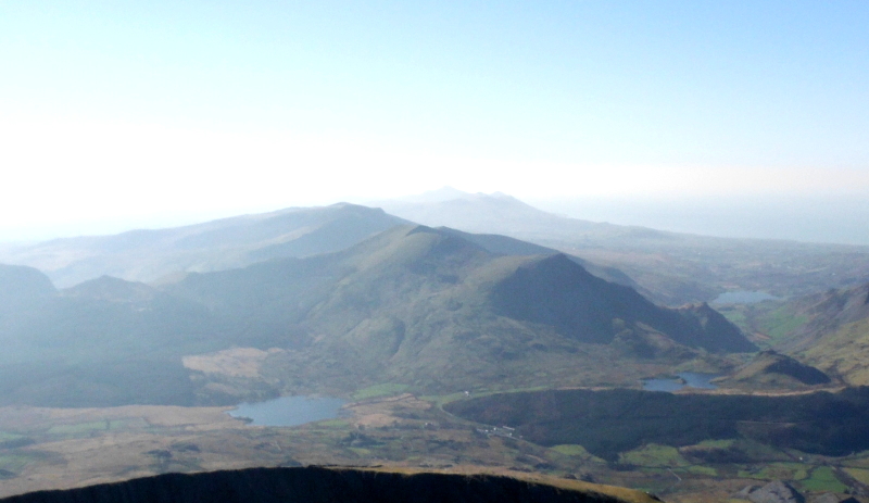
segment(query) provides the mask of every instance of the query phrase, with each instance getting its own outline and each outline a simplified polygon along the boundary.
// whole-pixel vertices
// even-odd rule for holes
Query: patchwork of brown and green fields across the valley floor
[[[367,393],[389,387],[381,388]],[[0,495],[168,471],[308,464],[578,479],[671,502],[722,501],[776,479],[804,491],[860,494],[869,480],[869,452],[829,457],[730,440],[644,444],[607,464],[582,445],[544,448],[439,405],[464,398],[373,398],[347,405],[347,417],[292,428],[249,426],[225,414],[227,407],[3,407]],[[728,458],[736,448],[753,458]]]

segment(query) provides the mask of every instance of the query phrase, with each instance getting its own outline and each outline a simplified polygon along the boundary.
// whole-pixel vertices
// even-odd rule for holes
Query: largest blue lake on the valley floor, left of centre
[[[257,426],[298,426],[315,420],[342,417],[347,400],[331,397],[280,397],[256,403],[242,403],[228,411],[232,417],[252,419]]]

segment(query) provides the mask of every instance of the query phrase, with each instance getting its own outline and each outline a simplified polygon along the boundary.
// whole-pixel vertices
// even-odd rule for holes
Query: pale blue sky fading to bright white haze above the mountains
[[[445,185],[677,226],[771,198],[853,235],[867,26],[857,0],[0,0],[0,240]]]

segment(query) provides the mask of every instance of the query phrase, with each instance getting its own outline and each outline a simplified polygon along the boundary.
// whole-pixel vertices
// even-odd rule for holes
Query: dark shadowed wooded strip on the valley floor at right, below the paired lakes
[[[612,389],[504,393],[452,402],[466,419],[509,425],[541,445],[580,444],[615,461],[643,444],[747,438],[842,456],[869,448],[869,388],[790,395],[675,394]]]

